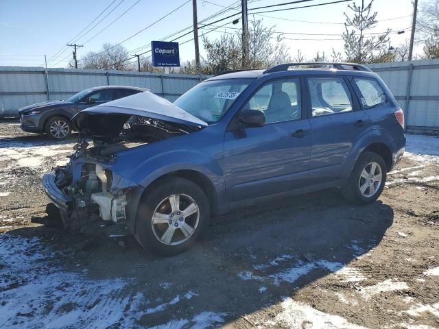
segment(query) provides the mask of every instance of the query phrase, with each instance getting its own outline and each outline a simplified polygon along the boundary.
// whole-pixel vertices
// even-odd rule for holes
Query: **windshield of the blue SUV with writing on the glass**
[[[227,79],[202,82],[181,95],[174,104],[202,121],[215,123],[252,81]]]

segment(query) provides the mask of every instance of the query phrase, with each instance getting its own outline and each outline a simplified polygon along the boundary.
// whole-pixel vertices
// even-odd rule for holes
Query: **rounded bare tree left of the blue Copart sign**
[[[104,43],[100,51],[88,51],[82,56],[80,62],[82,69],[112,69],[128,71],[130,63],[128,51],[122,45]]]

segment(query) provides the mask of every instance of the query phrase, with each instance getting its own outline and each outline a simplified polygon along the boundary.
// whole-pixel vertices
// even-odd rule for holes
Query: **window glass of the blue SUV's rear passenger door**
[[[342,77],[307,78],[312,116],[351,112],[352,95]]]

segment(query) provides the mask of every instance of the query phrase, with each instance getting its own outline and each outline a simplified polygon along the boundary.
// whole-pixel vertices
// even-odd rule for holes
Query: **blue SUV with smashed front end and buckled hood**
[[[309,65],[216,75],[174,103],[146,91],[79,112],[69,163],[43,178],[64,225],[104,221],[170,255],[233,208],[336,186],[375,202],[403,156],[403,112],[366,66]]]

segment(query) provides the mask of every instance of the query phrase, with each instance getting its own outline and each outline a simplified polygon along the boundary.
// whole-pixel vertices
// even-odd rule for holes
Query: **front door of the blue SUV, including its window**
[[[301,188],[307,184],[311,134],[302,119],[300,79],[263,84],[243,109],[261,110],[263,127],[226,132],[226,198],[239,201]]]

